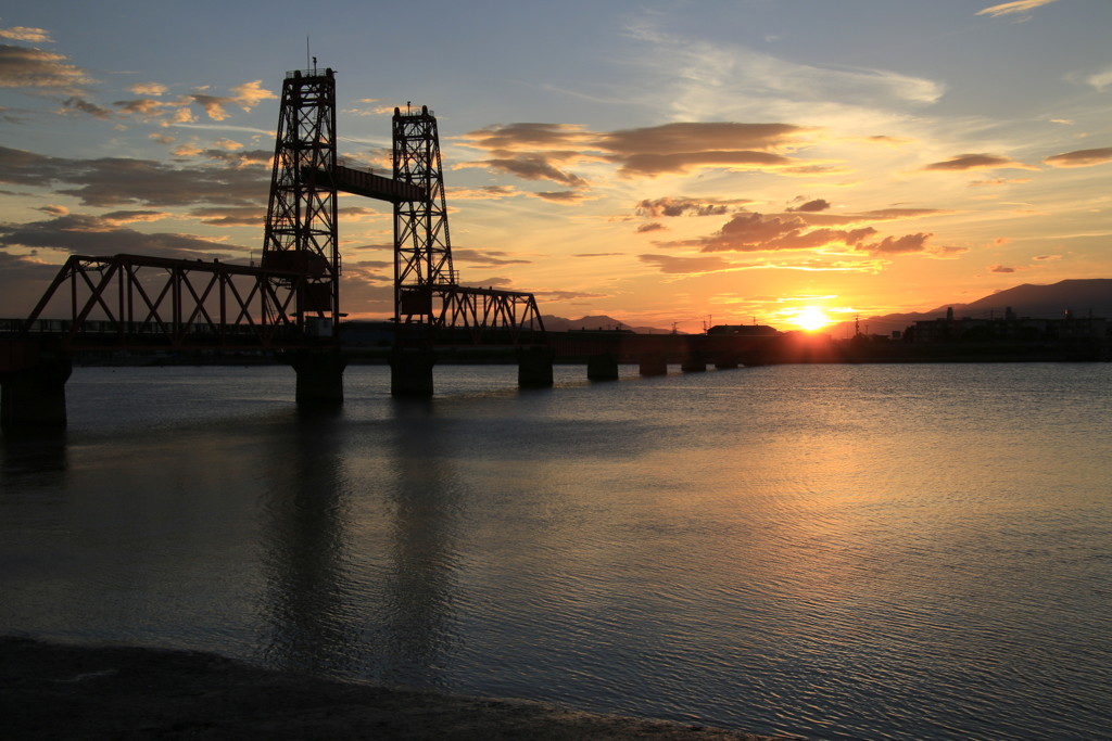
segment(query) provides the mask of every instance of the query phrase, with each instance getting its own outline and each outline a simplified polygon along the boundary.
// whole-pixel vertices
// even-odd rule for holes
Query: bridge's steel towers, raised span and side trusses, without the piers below
[[[394,319],[401,344],[544,342],[532,293],[457,281],[439,136],[427,108],[395,109],[393,177],[340,164],[336,141],[332,70],[289,72],[258,266],[72,256],[31,311],[24,333],[41,336],[41,320],[58,317],[64,306],[64,331],[48,332],[64,352],[338,343],[346,314],[337,201],[346,192],[393,204]],[[113,331],[106,333],[105,322]]]

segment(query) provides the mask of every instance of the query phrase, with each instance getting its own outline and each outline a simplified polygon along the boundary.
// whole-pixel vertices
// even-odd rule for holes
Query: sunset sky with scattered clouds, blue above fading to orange
[[[794,329],[1112,277],[1110,0],[6,4],[0,317],[72,253],[257,258],[314,57],[350,166],[436,113],[460,282],[543,314]],[[389,204],[339,231],[344,310],[391,316]]]

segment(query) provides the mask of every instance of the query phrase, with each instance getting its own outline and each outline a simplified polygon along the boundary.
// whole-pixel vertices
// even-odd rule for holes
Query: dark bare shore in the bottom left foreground
[[[9,739],[766,741],[673,721],[252,667],[214,653],[0,637]]]

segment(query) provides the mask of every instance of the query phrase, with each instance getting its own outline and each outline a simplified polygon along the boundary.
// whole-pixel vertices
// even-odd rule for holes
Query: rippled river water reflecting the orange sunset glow
[[[0,632],[811,738],[1112,735],[1110,364],[517,391],[81,368],[4,438]]]

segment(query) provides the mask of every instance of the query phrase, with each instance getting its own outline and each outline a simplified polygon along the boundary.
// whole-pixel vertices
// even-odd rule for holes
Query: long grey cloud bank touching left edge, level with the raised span
[[[242,153],[224,154],[242,157]],[[176,168],[153,160],[66,159],[0,147],[0,182],[49,188],[78,198],[86,206],[166,208],[206,203],[258,206],[266,202],[270,179],[262,168]]]

